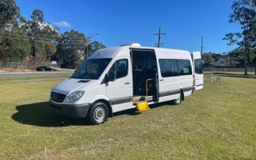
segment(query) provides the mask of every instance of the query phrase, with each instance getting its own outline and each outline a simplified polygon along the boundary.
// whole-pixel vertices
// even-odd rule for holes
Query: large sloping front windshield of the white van
[[[71,78],[77,79],[99,79],[102,72],[108,66],[111,58],[98,58],[86,60]]]

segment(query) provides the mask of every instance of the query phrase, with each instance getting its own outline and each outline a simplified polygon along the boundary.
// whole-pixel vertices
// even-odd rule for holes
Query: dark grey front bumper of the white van
[[[86,117],[91,104],[56,104],[49,100],[50,109],[54,112],[72,117]]]

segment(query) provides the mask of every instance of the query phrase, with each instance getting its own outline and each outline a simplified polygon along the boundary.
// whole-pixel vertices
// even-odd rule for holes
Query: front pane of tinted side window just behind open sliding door
[[[180,75],[178,60],[159,59],[162,77],[174,77]]]

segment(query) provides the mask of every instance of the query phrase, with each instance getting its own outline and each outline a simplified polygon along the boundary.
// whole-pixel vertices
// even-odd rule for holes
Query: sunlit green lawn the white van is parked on
[[[49,111],[59,82],[0,81],[0,159],[256,159],[256,79],[221,77],[180,106],[95,126]]]

